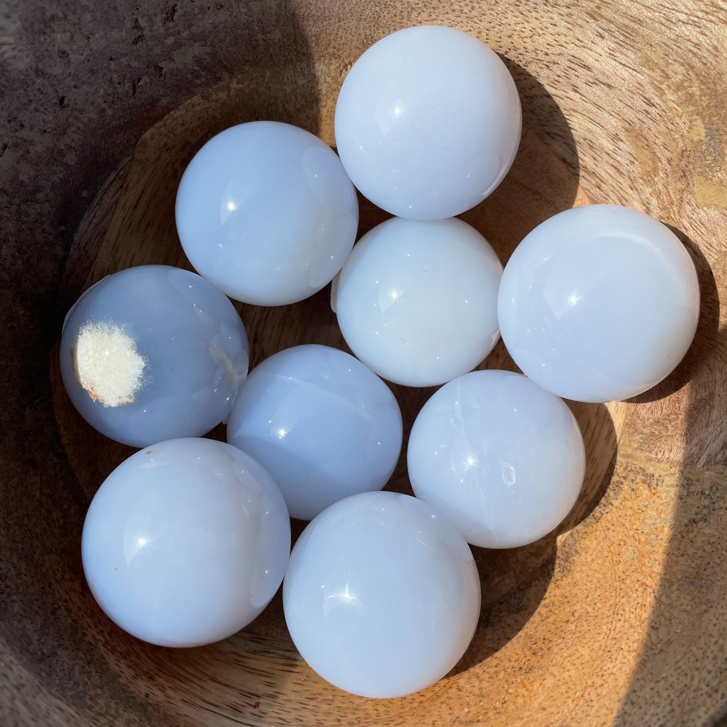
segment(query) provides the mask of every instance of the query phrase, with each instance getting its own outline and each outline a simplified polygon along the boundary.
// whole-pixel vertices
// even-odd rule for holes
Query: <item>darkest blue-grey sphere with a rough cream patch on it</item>
[[[245,328],[204,278],[142,265],[103,278],[63,326],[63,384],[92,427],[132,446],[203,435],[232,409]]]

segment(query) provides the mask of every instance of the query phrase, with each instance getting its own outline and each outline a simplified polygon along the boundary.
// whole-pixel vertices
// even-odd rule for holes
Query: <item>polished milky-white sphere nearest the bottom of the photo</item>
[[[403,696],[465,653],[480,579],[465,539],[430,505],[365,492],[303,531],[283,606],[295,646],[324,679],[361,696]]]

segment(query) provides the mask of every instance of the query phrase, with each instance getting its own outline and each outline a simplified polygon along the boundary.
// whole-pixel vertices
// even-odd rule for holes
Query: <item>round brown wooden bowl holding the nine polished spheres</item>
[[[3,20],[0,723],[697,726],[727,710],[727,13],[689,0],[10,3]],[[121,632],[81,570],[89,499],[130,450],[65,396],[65,310],[106,273],[188,265],[182,170],[212,134],[277,119],[333,143],[353,60],[439,23],[499,52],[523,104],[518,158],[464,215],[503,262],[587,201],[663,220],[694,257],[694,345],[656,389],[575,404],[582,497],[558,531],[476,550],[483,608],[465,657],[420,694],[344,694],[302,662],[278,597],[243,632],[173,650]],[[362,201],[365,231],[384,214]],[[241,307],[253,364],[342,346],[328,290]],[[721,327],[720,327],[721,326]],[[486,366],[512,366],[502,345]],[[408,427],[430,390],[395,387]],[[220,435],[220,432],[216,433]],[[400,462],[391,485],[406,491]],[[294,523],[299,533],[300,523]]]

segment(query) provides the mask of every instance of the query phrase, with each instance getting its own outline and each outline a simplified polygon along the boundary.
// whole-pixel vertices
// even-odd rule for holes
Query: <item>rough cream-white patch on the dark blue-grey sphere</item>
[[[142,387],[146,361],[116,324],[81,326],[71,356],[76,380],[103,406],[132,403]]]

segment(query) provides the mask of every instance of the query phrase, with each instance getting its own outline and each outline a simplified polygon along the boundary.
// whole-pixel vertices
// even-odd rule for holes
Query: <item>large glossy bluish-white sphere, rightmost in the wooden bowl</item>
[[[616,401],[658,384],[699,319],[694,264],[669,228],[610,204],[542,222],[507,262],[499,325],[515,364],[576,401]]]

